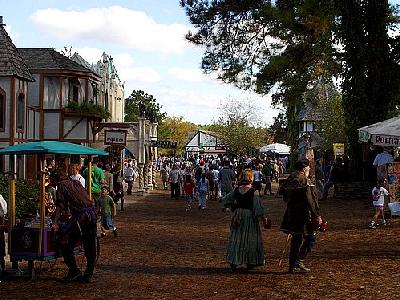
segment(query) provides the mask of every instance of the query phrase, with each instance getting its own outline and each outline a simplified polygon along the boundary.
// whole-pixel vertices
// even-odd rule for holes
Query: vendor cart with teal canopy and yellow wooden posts
[[[40,199],[38,213],[36,216],[29,216],[25,219],[16,220],[16,199],[15,199],[15,174],[11,172],[9,176],[9,254],[12,262],[21,260],[28,261],[34,276],[34,261],[48,261],[55,259],[58,253],[54,247],[54,232],[52,226],[52,209],[46,201],[45,191],[45,155],[46,154],[70,154],[70,155],[108,155],[106,151],[97,150],[68,142],[40,141],[29,142],[10,146],[0,150],[0,155],[10,155],[14,159],[15,155],[34,154],[40,162]],[[89,159],[88,172],[88,193],[91,199],[91,159]],[[34,199],[31,199],[34,201]],[[54,203],[53,203],[54,205]]]

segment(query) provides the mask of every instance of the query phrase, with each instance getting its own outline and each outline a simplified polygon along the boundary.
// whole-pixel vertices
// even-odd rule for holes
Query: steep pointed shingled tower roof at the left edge
[[[3,17],[0,17],[0,76],[35,81],[4,26]]]

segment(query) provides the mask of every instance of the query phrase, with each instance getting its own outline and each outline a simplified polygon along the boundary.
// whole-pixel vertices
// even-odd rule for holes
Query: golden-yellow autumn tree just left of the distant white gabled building
[[[198,127],[185,121],[182,117],[166,117],[158,125],[158,139],[176,141],[176,154],[183,155],[188,143],[189,133],[197,131]],[[171,155],[174,150],[159,149],[160,154]]]

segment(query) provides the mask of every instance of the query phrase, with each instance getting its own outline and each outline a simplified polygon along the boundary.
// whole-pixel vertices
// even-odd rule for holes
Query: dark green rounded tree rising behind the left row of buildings
[[[125,122],[137,122],[139,117],[145,117],[151,122],[162,122],[166,113],[161,112],[162,106],[157,100],[144,91],[134,90],[125,99]]]

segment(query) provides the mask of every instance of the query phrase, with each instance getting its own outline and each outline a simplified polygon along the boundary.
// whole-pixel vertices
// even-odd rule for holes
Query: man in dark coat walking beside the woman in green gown
[[[293,172],[285,183],[284,200],[287,208],[281,230],[291,235],[289,273],[310,271],[304,259],[316,242],[316,229],[322,220],[315,185],[309,181],[310,166],[307,159],[295,163]]]

